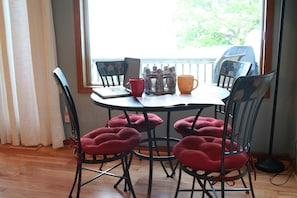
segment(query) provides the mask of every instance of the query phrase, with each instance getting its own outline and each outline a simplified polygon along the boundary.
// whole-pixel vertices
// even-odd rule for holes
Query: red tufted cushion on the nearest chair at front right
[[[237,145],[234,145],[236,148]],[[218,172],[221,169],[222,138],[211,136],[187,136],[173,147],[173,153],[183,165],[194,170]],[[230,140],[226,141],[230,151]],[[240,169],[249,160],[247,153],[225,157],[225,170]]]

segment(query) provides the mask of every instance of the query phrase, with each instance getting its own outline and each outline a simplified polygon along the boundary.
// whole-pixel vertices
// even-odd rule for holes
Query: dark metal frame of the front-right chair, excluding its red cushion
[[[224,119],[224,131],[222,136],[222,160],[220,170],[215,172],[217,175],[214,175],[214,172],[193,170],[180,163],[178,185],[176,188],[175,197],[178,196],[178,193],[180,191],[190,191],[191,197],[193,196],[194,191],[202,191],[203,197],[205,194],[207,194],[209,197],[212,197],[210,192],[213,192],[215,197],[217,197],[216,191],[221,192],[221,197],[225,196],[225,191],[246,191],[246,193],[251,192],[252,197],[255,197],[251,179],[253,161],[250,155],[253,128],[256,122],[256,117],[261,102],[271,84],[273,77],[274,72],[271,72],[266,75],[240,77],[236,80],[225,108],[226,112]],[[230,135],[227,134],[228,123],[232,126],[232,133]],[[227,140],[231,142],[231,145],[233,145],[233,148],[229,152],[225,152]],[[244,167],[242,167],[241,169],[226,171],[224,168],[225,158],[232,157],[233,155],[238,155],[241,153],[247,153],[247,155],[250,157],[250,160],[248,160],[245,164],[245,169]],[[191,189],[180,189],[183,171],[193,176],[193,184]],[[248,175],[249,179],[249,187],[247,187],[246,183],[243,180],[243,177],[246,174]],[[225,188],[225,182],[234,182],[237,179],[240,179],[242,181],[243,188]],[[197,180],[201,189],[195,189],[195,180]],[[221,184],[219,189],[215,189],[213,185],[217,182],[220,182]],[[210,188],[207,188],[207,183]]]

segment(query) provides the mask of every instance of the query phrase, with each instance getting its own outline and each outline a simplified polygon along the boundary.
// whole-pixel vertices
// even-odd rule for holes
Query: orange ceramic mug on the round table
[[[193,75],[179,75],[177,77],[177,83],[181,94],[190,94],[198,87],[198,80],[194,79]]]

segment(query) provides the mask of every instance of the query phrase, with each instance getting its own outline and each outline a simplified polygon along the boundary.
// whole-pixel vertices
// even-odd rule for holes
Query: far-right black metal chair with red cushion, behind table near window
[[[226,60],[221,66],[218,76],[217,86],[231,91],[235,80],[241,76],[246,76],[251,69],[251,63]],[[225,99],[226,101],[227,99]],[[224,115],[225,106],[216,105],[214,107],[214,117],[202,117],[199,111],[196,116],[189,116],[174,123],[175,130],[183,137],[188,135],[210,135],[221,137],[224,121],[219,115]],[[228,128],[231,131],[231,128]]]

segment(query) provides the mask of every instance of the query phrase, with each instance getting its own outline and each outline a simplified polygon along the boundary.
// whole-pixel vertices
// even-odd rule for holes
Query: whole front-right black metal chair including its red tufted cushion
[[[250,155],[253,129],[273,76],[274,72],[271,72],[236,80],[225,108],[222,137],[187,136],[174,146],[173,152],[180,162],[175,197],[181,191],[189,191],[191,196],[195,191],[201,191],[203,197],[205,194],[212,197],[210,192],[217,197],[217,191],[220,191],[221,197],[224,197],[225,191],[245,191],[255,197]],[[231,125],[231,133],[228,133],[228,124]],[[191,189],[181,189],[182,172],[193,176]],[[245,175],[248,175],[249,187],[243,179]],[[241,180],[242,188],[235,187],[238,186],[234,185],[236,180]],[[195,181],[201,188],[195,188]],[[227,182],[232,187],[226,188]]]

